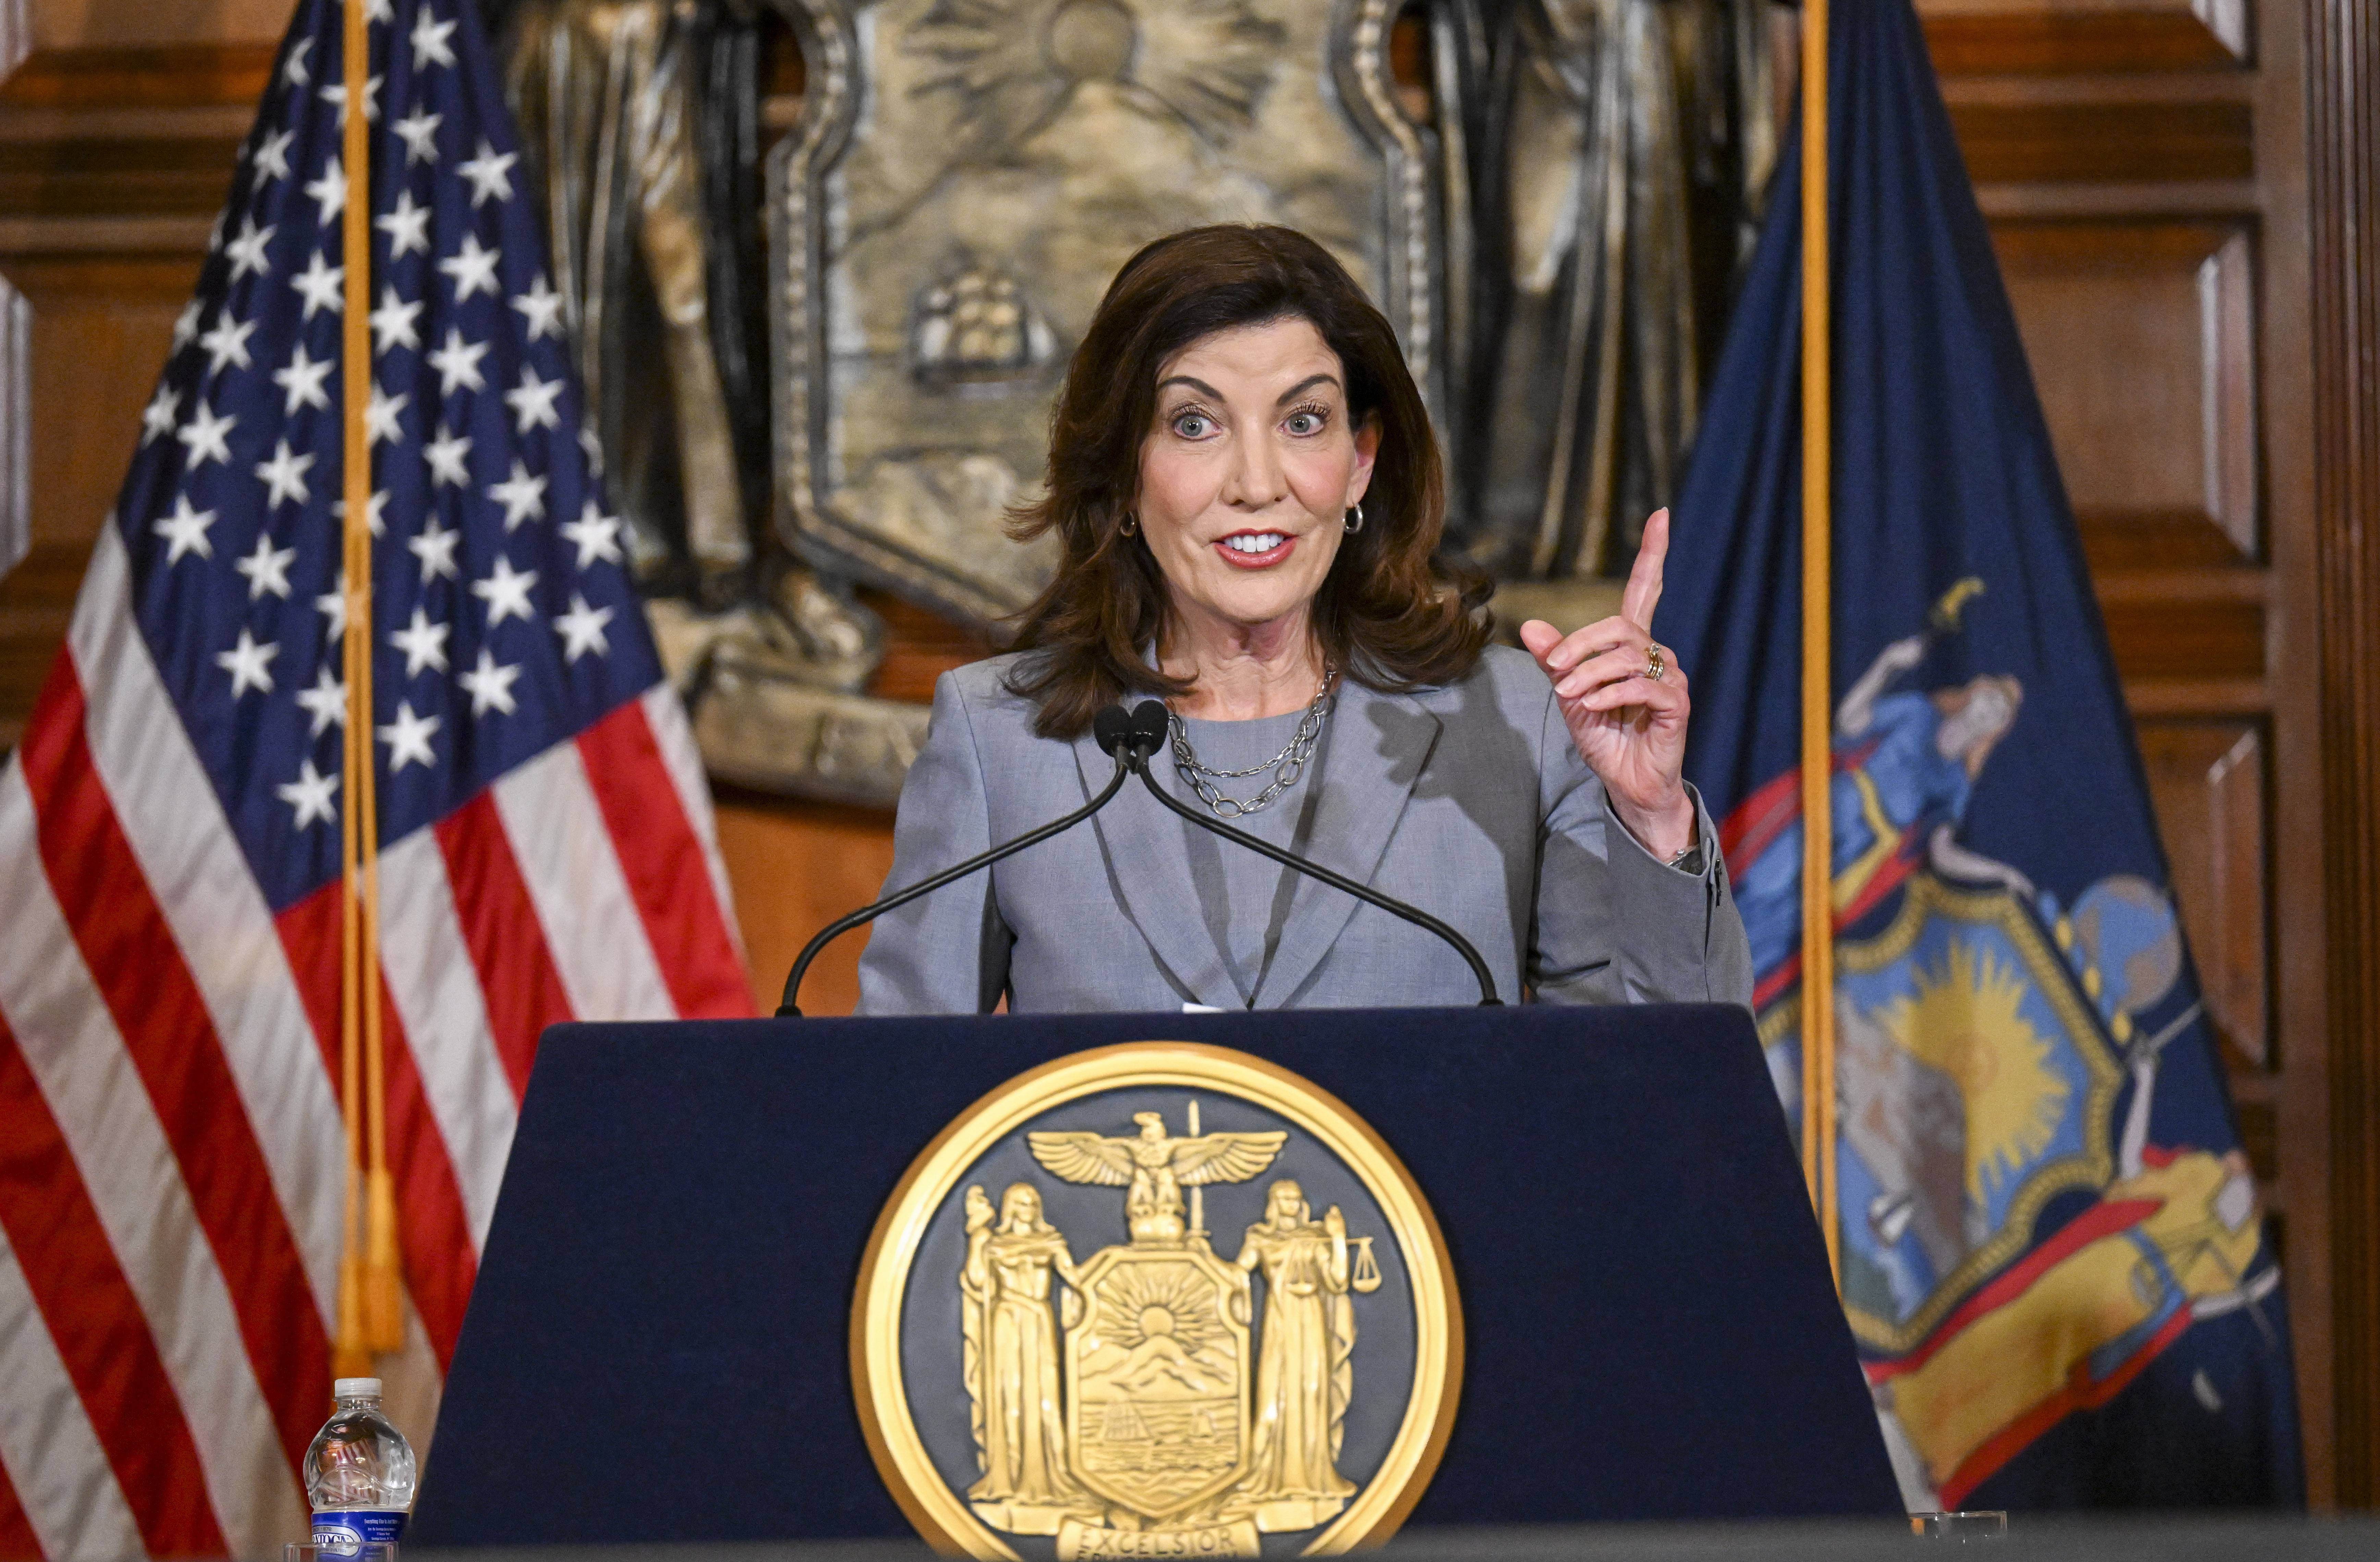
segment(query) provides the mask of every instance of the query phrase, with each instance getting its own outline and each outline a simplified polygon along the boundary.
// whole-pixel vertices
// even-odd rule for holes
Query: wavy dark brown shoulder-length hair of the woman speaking
[[[1019,614],[1014,645],[1038,655],[1009,674],[1009,691],[1040,705],[1040,736],[1078,738],[1128,693],[1190,693],[1190,679],[1145,660],[1166,629],[1166,579],[1123,533],[1157,421],[1157,376],[1204,336],[1278,319],[1321,333],[1345,369],[1352,426],[1380,429],[1366,526],[1340,541],[1314,600],[1323,657],[1380,691],[1452,683],[1478,662],[1488,576],[1438,552],[1447,479],[1397,333],[1304,233],[1190,229],[1142,248],[1107,286],[1050,414],[1045,493],[1009,517],[1016,541],[1059,541],[1057,579]]]

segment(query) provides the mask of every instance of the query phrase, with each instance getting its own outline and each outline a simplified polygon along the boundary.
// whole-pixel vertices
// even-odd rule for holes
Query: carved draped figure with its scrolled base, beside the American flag
[[[593,455],[716,776],[890,802],[923,712],[776,529],[757,0],[486,0]]]

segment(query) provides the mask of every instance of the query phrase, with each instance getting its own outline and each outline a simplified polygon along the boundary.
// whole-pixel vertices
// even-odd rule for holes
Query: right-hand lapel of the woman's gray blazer
[[[1307,857],[1357,883],[1371,883],[1414,786],[1430,767],[1440,731],[1438,714],[1416,695],[1342,683],[1323,738],[1321,800]],[[1354,895],[1299,874],[1280,945],[1257,983],[1254,1007],[1278,1010],[1295,998],[1338,943],[1354,907]]]

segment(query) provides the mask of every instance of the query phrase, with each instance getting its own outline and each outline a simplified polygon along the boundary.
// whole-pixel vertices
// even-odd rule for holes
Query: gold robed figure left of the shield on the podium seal
[[[973,1502],[1047,1505],[1078,1495],[1066,1474],[1052,1274],[1076,1283],[1066,1233],[1042,1219],[1040,1193],[1009,1183],[995,1226],[990,1200],[969,1188],[959,1312],[983,1460],[983,1479],[966,1491]]]

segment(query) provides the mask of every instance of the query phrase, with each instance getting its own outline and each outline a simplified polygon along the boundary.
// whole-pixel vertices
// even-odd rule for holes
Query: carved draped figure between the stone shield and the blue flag
[[[1771,0],[1442,0],[1468,193],[1457,524],[1502,579],[1635,555],[1775,162]]]

